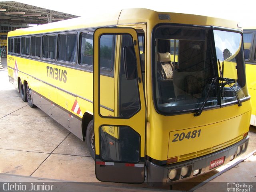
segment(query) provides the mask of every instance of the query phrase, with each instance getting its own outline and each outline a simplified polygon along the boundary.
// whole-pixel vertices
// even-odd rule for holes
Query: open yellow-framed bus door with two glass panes
[[[106,77],[106,69],[114,73]],[[96,178],[106,182],[142,183],[146,104],[136,30],[95,30],[93,75]],[[107,78],[114,78],[113,84],[107,83],[110,82]],[[110,94],[106,88],[111,86],[115,87],[115,93],[106,100],[106,94]],[[114,102],[113,109],[104,107],[108,102]]]

